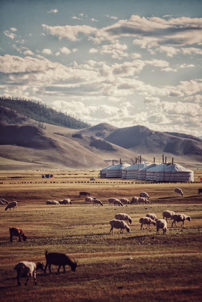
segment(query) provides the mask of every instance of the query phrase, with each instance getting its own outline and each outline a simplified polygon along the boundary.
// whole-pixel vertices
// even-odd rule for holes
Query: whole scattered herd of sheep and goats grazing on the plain
[[[177,196],[181,197],[184,196],[183,192],[181,189],[179,188],[175,188],[175,195],[177,193]],[[202,193],[202,189],[198,189],[198,195],[200,195],[200,193]],[[88,192],[79,192],[79,197],[81,198],[81,196],[85,197],[85,204],[91,204],[93,203],[93,206],[95,205],[97,207],[97,205],[99,204],[100,206],[103,206],[103,203],[98,200],[97,198],[91,196],[90,197],[90,193]],[[141,192],[139,194],[139,197],[134,196],[132,197],[132,200],[130,201],[127,198],[120,198],[120,200],[118,198],[109,198],[108,202],[109,202],[109,206],[123,206],[123,204],[150,204],[150,201],[148,200],[150,197],[146,192]],[[0,198],[0,204],[4,205],[4,203],[7,204],[7,206],[5,207],[5,211],[13,208],[13,210],[16,207],[17,210],[17,201],[11,201],[8,202],[3,198]],[[46,204],[72,204],[71,200],[69,198],[63,199],[63,200],[59,200],[59,201],[46,201]],[[157,228],[157,232],[156,235],[159,235],[159,230],[162,229],[163,230],[163,234],[166,234],[167,232],[167,218],[170,218],[170,223],[172,223],[173,227],[173,223],[175,224],[175,226],[177,227],[177,223],[182,222],[181,226],[184,227],[184,221],[188,220],[191,221],[190,216],[186,216],[185,214],[175,214],[174,211],[170,211],[170,210],[165,210],[162,213],[163,215],[163,219],[157,219],[157,216],[155,214],[152,213],[148,213],[145,215],[145,217],[141,217],[139,219],[139,223],[141,223],[141,229],[143,228],[144,230],[144,225],[147,225],[146,229],[150,229],[151,225],[156,226]],[[111,225],[110,228],[110,232],[109,234],[111,234],[111,232],[114,234],[113,229],[120,229],[121,232],[120,233],[124,233],[124,230],[126,230],[128,233],[131,233],[131,229],[129,227],[129,223],[132,224],[132,219],[131,217],[126,214],[126,213],[118,213],[114,216],[115,219],[110,220],[109,223]],[[128,223],[129,222],[129,223]],[[23,239],[23,241],[26,241],[26,239],[28,238],[27,236],[25,236],[25,233],[22,229],[20,228],[16,228],[16,227],[9,227],[9,233],[10,233],[10,242],[12,243],[12,238],[13,236],[17,236],[19,239],[19,242],[21,242],[21,237]],[[25,285],[27,285],[28,282],[28,278],[30,276],[34,277],[34,282],[35,285],[37,285],[36,283],[36,272],[40,269],[42,271],[44,271],[44,273],[46,273],[46,269],[48,267],[49,272],[51,274],[51,265],[57,265],[58,266],[58,271],[57,274],[59,273],[59,270],[61,268],[61,266],[63,267],[63,270],[65,272],[65,265],[69,265],[71,267],[72,271],[76,270],[77,267],[77,261],[72,261],[68,255],[66,254],[62,254],[62,253],[57,253],[57,252],[51,252],[48,253],[47,251],[45,251],[45,258],[46,258],[46,265],[44,266],[43,262],[28,262],[28,261],[22,261],[19,262],[18,264],[15,265],[14,269],[17,271],[17,284],[18,286],[21,285],[20,283],[20,277],[26,277],[26,282]]]

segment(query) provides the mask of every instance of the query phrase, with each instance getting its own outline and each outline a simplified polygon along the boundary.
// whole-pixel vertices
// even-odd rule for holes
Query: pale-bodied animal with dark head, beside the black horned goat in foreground
[[[44,264],[43,262],[37,262],[36,264],[34,262],[22,261],[22,262],[18,262],[18,264],[15,265],[14,269],[17,271],[18,286],[21,285],[20,277],[27,277],[27,280],[25,282],[25,286],[26,286],[29,276],[34,277],[35,285],[37,285],[36,271],[38,271],[38,269],[44,271]]]

